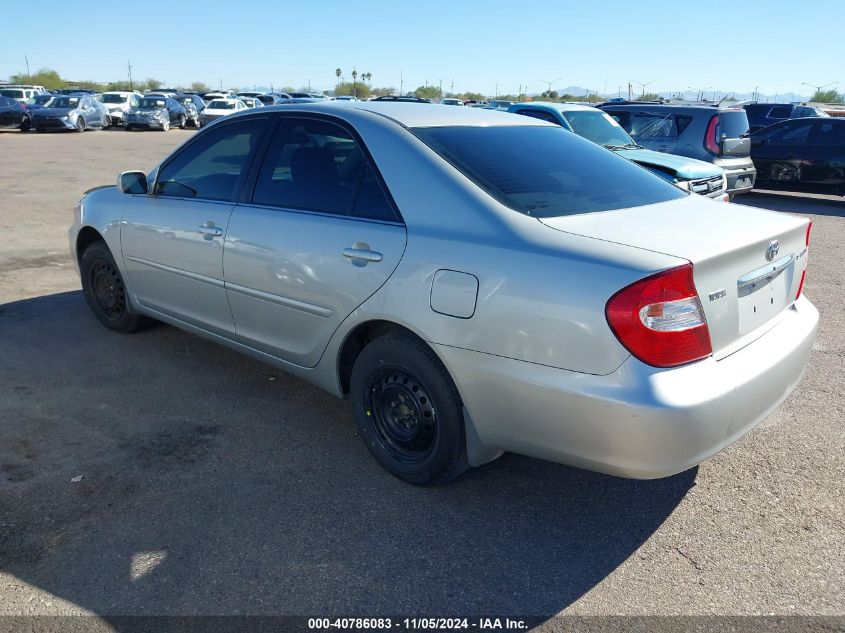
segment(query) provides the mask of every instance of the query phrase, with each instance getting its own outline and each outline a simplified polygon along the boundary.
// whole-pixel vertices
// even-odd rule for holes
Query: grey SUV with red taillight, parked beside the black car
[[[751,162],[748,117],[742,108],[662,104],[602,104],[640,145],[680,154],[725,170],[728,195],[751,191],[757,170]]]

